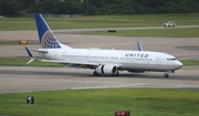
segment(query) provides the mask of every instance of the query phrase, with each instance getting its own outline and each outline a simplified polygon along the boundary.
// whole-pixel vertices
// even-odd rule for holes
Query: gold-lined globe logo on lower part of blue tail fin
[[[42,49],[61,49],[61,45],[50,30],[43,34],[41,46]]]

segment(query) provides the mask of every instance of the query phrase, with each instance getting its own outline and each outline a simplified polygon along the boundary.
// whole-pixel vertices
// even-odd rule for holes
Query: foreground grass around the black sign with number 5
[[[27,104],[34,96],[34,104]],[[14,116],[198,116],[199,92],[191,89],[67,89],[0,94],[0,115]]]

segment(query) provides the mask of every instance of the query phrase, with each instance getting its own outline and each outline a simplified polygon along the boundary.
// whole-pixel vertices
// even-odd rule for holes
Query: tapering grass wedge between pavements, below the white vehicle
[[[198,38],[199,28],[167,28],[145,30],[116,30],[115,33],[107,31],[86,32],[91,35],[128,35],[128,36],[160,36],[160,38]]]

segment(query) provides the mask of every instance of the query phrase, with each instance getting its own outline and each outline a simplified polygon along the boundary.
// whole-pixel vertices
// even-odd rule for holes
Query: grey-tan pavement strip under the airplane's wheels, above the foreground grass
[[[163,72],[96,77],[91,70],[0,66],[0,93],[121,87],[199,89],[198,71],[199,66],[186,66],[168,78],[163,77]]]

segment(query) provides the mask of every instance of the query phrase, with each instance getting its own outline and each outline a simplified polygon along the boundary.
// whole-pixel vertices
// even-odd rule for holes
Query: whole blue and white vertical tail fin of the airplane
[[[38,28],[38,34],[40,40],[40,45],[42,49],[62,49],[69,48],[66,45],[61,44],[56,38],[54,36],[53,32],[46,24],[45,20],[40,13],[35,13],[35,23]]]

